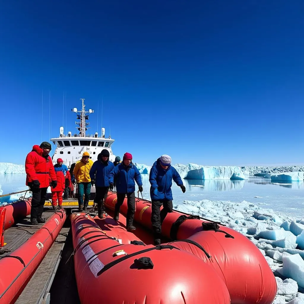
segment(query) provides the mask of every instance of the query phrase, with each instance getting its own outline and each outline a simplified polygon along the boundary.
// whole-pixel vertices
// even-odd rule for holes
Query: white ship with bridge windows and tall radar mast
[[[64,134],[64,128],[60,127],[59,137],[50,139],[57,146],[52,156],[53,163],[57,163],[57,158],[62,158],[64,164],[70,168],[71,164],[81,160],[85,151],[90,153],[90,159],[94,162],[97,161],[97,156],[103,149],[109,151],[109,160],[113,162],[116,156],[112,152],[112,144],[115,140],[110,135],[108,138],[105,137],[105,128],[101,129],[101,136],[98,136],[98,132],[86,134],[86,131],[90,129],[88,127],[90,123],[87,120],[89,119],[89,114],[94,113],[94,110],[85,111],[85,99],[81,98],[80,100],[82,101],[81,111],[78,111],[77,108],[71,109],[72,112],[79,113],[77,114],[77,119],[80,121],[75,122],[79,133],[72,134],[69,131]]]

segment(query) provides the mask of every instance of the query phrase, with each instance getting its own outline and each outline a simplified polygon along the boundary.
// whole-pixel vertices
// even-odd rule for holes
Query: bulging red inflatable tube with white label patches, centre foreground
[[[225,282],[195,255],[145,245],[109,216],[98,221],[102,228],[85,213],[72,214],[71,223],[82,304],[230,303]]]

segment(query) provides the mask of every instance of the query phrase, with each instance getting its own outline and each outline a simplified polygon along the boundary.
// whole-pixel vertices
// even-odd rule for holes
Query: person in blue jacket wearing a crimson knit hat
[[[127,195],[127,230],[136,230],[133,226],[135,214],[135,181],[140,192],[143,191],[143,183],[137,167],[132,163],[132,154],[125,153],[123,162],[118,164],[110,173],[110,190],[114,188],[114,178],[116,178],[117,202],[115,205],[114,219],[119,220],[120,207]]]

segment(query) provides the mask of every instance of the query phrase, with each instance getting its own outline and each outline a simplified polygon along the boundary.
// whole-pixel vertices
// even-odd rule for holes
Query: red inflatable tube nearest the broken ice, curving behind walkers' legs
[[[109,192],[105,206],[114,210],[116,199],[116,193]],[[126,199],[120,210],[126,214]],[[151,202],[136,199],[134,219],[151,230]],[[225,282],[232,304],[271,304],[275,299],[277,285],[271,268],[260,250],[241,233],[174,210],[162,224],[162,235],[173,240],[170,246],[192,253],[211,266]]]

